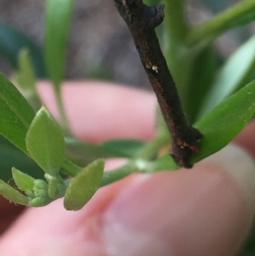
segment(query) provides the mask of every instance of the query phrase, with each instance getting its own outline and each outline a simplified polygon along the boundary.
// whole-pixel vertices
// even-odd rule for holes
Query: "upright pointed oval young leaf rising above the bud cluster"
[[[65,158],[65,141],[58,123],[45,107],[37,112],[26,134],[27,150],[44,172],[55,176]]]

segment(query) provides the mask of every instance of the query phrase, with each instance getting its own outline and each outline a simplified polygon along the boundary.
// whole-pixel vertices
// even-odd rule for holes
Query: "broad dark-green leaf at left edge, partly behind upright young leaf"
[[[0,134],[26,154],[26,132],[34,116],[31,105],[14,85],[0,74]]]

